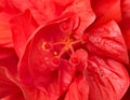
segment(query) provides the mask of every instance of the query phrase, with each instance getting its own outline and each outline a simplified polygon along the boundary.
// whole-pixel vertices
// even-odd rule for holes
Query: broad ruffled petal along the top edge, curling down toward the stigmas
[[[77,38],[81,37],[84,29],[91,25],[95,18],[90,0],[65,0],[64,2],[60,0],[40,0],[37,2],[35,0],[31,0],[31,2],[27,0],[12,0],[12,2],[22,11],[29,9],[39,25],[43,25],[66,12],[74,12],[81,20],[76,32]]]

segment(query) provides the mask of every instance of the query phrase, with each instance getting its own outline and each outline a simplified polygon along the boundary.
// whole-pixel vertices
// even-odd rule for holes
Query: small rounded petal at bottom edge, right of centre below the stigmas
[[[69,86],[65,100],[89,100],[89,84],[84,77],[76,78]]]

